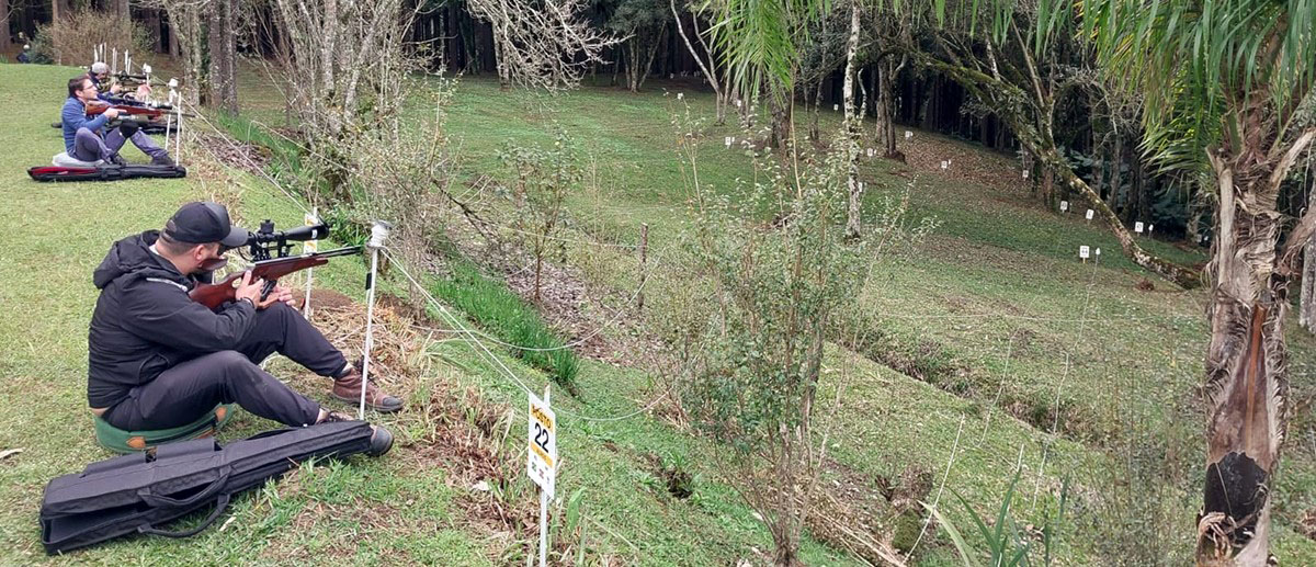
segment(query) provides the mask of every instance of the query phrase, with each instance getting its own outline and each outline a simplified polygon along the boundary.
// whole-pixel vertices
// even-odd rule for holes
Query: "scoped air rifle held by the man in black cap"
[[[251,235],[247,237],[247,242],[243,245],[247,247],[251,259],[255,260],[250,270],[251,280],[265,280],[265,287],[261,288],[261,299],[266,299],[270,292],[274,291],[274,285],[279,282],[279,278],[305,268],[324,266],[329,263],[329,258],[361,254],[361,246],[347,246],[313,254],[291,254],[292,245],[290,242],[318,239],[328,235],[329,226],[322,222],[315,226],[301,226],[288,232],[275,232],[274,222],[270,222],[268,220],[262,222],[261,230],[251,233]],[[212,264],[203,266],[203,268],[213,271],[224,267],[225,263],[226,260],[221,259]],[[237,299],[237,289],[233,285],[241,279],[242,272],[233,274],[220,283],[197,284],[187,295],[192,297],[192,301],[215,309],[226,301],[234,301]]]

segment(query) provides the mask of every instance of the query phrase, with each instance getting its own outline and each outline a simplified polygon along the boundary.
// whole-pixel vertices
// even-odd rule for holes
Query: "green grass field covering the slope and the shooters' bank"
[[[0,132],[8,149],[0,155],[0,375],[7,378],[0,400],[8,408],[0,414],[0,450],[24,449],[0,460],[0,563],[524,563],[528,535],[499,534],[466,514],[459,503],[471,488],[426,451],[416,422],[434,384],[472,384],[491,403],[524,407],[519,387],[461,342],[436,346],[441,362],[432,375],[405,384],[411,409],[384,418],[400,431],[400,446],[388,458],[304,470],[240,499],[224,530],[187,541],[136,537],[45,559],[36,522],[41,487],[108,456],[95,446],[84,409],[86,328],[96,297],[89,275],[108,243],[155,228],[186,200],[212,195],[236,199],[249,224],[295,224],[301,212],[247,174],[193,160],[187,180],[33,183],[24,170],[59,151],[49,122],[72,70],[0,64],[0,72],[8,79],[0,103],[30,109]],[[261,84],[255,74],[243,78],[243,95],[251,95],[243,99],[243,114],[282,125],[282,108],[270,97],[276,95]],[[682,103],[675,92],[684,93]],[[424,100],[417,95],[416,116],[430,112]],[[679,82],[658,80],[640,95],[590,87],[540,99],[466,78],[450,108],[449,132],[461,142],[471,178],[497,178],[496,149],[509,139],[551,139],[551,121],[582,141],[605,189],[572,200],[569,237],[575,243],[567,263],[594,284],[628,296],[637,282],[633,255],[592,238],[633,243],[647,224],[654,249],[676,254],[671,246],[688,218],[687,187],[670,118],[687,103],[696,114],[712,112],[705,93]],[[834,118],[824,116],[824,128]],[[707,126],[704,136],[715,141],[701,153],[704,180],[733,193],[736,178],[750,171],[747,159],[716,142],[744,134],[734,126]],[[1021,522],[1038,522],[1070,479],[1078,504],[1062,529],[1062,564],[1117,564],[1120,549],[1112,541],[1128,545],[1136,534],[1152,541],[1146,547],[1173,551],[1158,560],[1186,556],[1202,484],[1203,417],[1195,395],[1207,338],[1202,292],[1155,279],[1153,291],[1137,289],[1149,276],[1119,255],[1113,237],[1080,217],[1038,209],[1023,185],[986,185],[958,171],[920,166],[936,163],[936,153],[955,153],[957,163],[959,155],[973,155],[986,168],[1005,170],[1013,167],[1008,157],[923,132],[903,150],[911,166],[865,164],[863,176],[875,188],[869,210],[909,187],[911,217],[934,217],[938,229],[911,255],[884,264],[880,285],[862,296],[882,316],[883,349],[865,353],[870,357],[834,349],[829,357],[821,396],[830,400],[841,388],[845,400],[825,420],[836,431],[834,459],[869,481],[909,471],[930,474],[937,484],[945,478],[942,508],[962,520],[950,491],[980,512],[995,510],[1023,454]],[[490,208],[508,214],[495,201]],[[1100,263],[1079,262],[1079,245],[1101,247]],[[1159,241],[1145,246],[1180,262],[1204,260]],[[357,262],[340,262],[317,280],[359,299],[362,271]],[[683,282],[665,279],[661,270],[653,278],[646,295],[655,304],[683,291]],[[1290,329],[1299,400],[1313,391],[1316,341],[1296,325]],[[620,332],[607,333],[624,339]],[[547,382],[508,353],[495,353],[532,389]],[[647,403],[655,380],[633,366],[586,360],[578,382],[587,401],[554,396],[567,462],[559,493],[586,491],[587,563],[761,563],[754,549],[770,549],[770,538],[707,464],[705,442],[649,416],[579,418],[632,413]],[[313,384],[304,376],[295,383]],[[324,399],[321,389],[307,392]],[[517,428],[522,418],[515,420]],[[242,414],[222,439],[271,425]],[[1316,545],[1295,531],[1316,508],[1312,426],[1309,416],[1295,416],[1275,495],[1279,530],[1273,542],[1286,564],[1316,564]],[[646,464],[655,456],[700,474],[695,496],[671,497]],[[519,489],[528,492],[524,484]],[[859,563],[812,538],[805,560]],[[944,538],[933,537],[921,545],[917,563],[958,560]]]

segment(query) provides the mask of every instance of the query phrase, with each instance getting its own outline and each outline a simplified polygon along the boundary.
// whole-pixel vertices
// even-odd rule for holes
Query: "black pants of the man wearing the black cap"
[[[234,350],[205,354],[166,370],[129,391],[101,418],[125,430],[170,429],[199,420],[217,404],[237,403],[284,425],[315,424],[320,404],[258,366],[272,353],[321,376],[338,376],[347,364],[320,330],[279,303],[257,312],[255,324]]]

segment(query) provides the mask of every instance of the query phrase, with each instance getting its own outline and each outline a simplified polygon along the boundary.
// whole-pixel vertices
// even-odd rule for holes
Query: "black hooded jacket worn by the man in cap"
[[[87,337],[87,401],[108,408],[166,368],[232,350],[250,330],[255,307],[236,301],[212,312],[187,292],[211,274],[184,276],[150,250],[159,232],[114,242],[96,268],[100,288]]]

